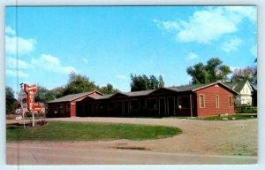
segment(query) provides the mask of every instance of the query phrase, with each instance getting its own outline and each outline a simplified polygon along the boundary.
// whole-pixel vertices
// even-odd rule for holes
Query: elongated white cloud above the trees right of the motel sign
[[[32,58],[32,65],[35,67],[40,67],[49,72],[53,73],[71,73],[77,72],[72,66],[62,66],[59,58],[51,56],[49,54],[42,54],[41,58]]]

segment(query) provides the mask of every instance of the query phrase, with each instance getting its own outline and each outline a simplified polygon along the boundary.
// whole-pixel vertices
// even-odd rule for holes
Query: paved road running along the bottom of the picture
[[[19,153],[19,154],[18,154]],[[203,165],[255,164],[257,157],[192,155],[155,151],[78,149],[7,143],[8,165]]]

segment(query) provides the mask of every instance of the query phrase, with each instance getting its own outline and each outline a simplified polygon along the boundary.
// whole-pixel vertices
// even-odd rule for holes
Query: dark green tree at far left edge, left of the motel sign
[[[19,106],[18,100],[14,97],[14,92],[10,87],[5,86],[6,113],[12,113]]]

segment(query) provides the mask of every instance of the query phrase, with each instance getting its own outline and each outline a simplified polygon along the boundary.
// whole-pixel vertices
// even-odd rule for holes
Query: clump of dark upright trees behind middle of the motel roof
[[[157,89],[164,86],[163,77],[160,75],[158,79],[155,75],[136,75],[131,73],[131,91],[140,91],[147,89]]]

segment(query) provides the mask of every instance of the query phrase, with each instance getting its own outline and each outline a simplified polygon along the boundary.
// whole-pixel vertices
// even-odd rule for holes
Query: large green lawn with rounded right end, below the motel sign
[[[134,124],[49,122],[42,127],[7,125],[7,142],[147,140],[181,134],[179,128]]]

